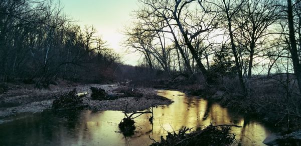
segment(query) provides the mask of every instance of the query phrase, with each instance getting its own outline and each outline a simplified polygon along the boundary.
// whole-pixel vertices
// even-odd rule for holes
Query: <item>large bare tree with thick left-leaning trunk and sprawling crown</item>
[[[145,5],[145,8],[139,11],[139,17],[156,18],[160,22],[163,22],[163,25],[148,30],[171,33],[172,41],[178,49],[177,52],[180,52],[182,55],[184,64],[187,66],[188,71],[191,72],[190,74],[192,74],[192,69],[188,53],[192,54],[198,69],[208,79],[208,71],[202,63],[199,52],[196,46],[193,45],[196,43],[193,41],[195,40],[194,38],[201,34],[208,35],[209,31],[217,26],[216,15],[207,14],[201,7],[193,9],[192,5],[199,5],[197,0],[141,0],[140,2]],[[198,15],[194,13],[198,13]],[[156,26],[149,21],[145,24]],[[188,53],[185,52],[184,47],[189,49]]]

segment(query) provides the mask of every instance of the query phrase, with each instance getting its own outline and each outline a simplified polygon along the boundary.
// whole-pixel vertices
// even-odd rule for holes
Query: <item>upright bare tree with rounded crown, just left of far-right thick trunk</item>
[[[279,3],[274,0],[246,0],[245,4],[233,17],[233,23],[237,24],[234,37],[248,55],[248,77],[251,77],[253,59],[261,51],[258,47],[264,47],[272,31],[269,26],[279,19]]]

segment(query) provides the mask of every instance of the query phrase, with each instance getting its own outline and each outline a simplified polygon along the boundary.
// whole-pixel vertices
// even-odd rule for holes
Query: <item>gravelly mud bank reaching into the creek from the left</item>
[[[122,96],[115,100],[93,100],[91,98],[90,86],[101,87],[108,94],[120,94],[118,88],[128,88],[117,84],[81,84],[77,86],[53,86],[49,89],[29,89],[24,87],[14,87],[7,93],[0,94],[0,118],[12,116],[21,112],[41,112],[50,109],[53,100],[74,88],[77,92],[88,92],[83,98],[83,103],[87,104],[94,111],[101,110],[124,110],[126,103],[127,112],[144,110],[151,106],[170,104],[172,101],[157,95],[153,88],[135,88],[143,93],[141,97]]]

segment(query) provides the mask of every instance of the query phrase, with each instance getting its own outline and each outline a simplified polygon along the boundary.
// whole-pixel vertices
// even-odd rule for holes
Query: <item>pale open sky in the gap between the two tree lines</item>
[[[125,26],[133,20],[130,16],[138,9],[137,0],[60,0],[63,12],[77,24],[84,27],[93,25],[97,35],[102,36],[122,56],[123,63],[136,65],[139,55],[126,53],[122,41]]]

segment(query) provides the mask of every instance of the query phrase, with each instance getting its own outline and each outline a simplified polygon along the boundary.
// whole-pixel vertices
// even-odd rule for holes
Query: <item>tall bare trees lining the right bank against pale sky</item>
[[[301,92],[299,0],[139,0],[125,43],[145,66],[208,83],[289,72]],[[287,64],[287,65],[286,65]]]

